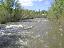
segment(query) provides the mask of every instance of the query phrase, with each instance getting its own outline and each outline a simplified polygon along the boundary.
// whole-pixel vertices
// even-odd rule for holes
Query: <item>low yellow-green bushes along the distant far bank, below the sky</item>
[[[45,14],[45,15],[42,15]],[[46,17],[47,11],[35,11],[35,10],[28,10],[28,9],[22,9],[22,19],[29,19],[29,18],[40,18],[40,17]]]

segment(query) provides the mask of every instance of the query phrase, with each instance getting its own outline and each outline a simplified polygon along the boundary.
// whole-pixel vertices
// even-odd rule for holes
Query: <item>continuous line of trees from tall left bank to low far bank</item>
[[[17,22],[22,19],[46,17],[47,11],[23,9],[18,0],[0,1],[0,23]]]

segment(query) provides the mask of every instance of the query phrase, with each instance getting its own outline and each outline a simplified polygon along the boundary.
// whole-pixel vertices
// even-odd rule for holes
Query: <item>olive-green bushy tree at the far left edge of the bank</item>
[[[6,19],[6,15],[7,15],[7,10],[5,9],[5,6],[4,6],[4,3],[3,1],[1,2],[1,5],[0,5],[0,23],[5,23],[7,22],[7,19]]]

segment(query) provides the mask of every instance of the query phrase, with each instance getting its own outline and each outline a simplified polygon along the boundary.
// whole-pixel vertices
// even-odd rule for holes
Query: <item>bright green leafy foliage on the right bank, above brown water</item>
[[[56,17],[57,19],[64,13],[64,0],[54,0],[52,7],[48,11],[48,16]]]

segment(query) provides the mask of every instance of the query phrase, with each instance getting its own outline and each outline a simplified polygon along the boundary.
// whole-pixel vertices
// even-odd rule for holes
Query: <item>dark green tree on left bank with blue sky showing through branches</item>
[[[21,6],[18,3],[18,0],[6,0],[6,5],[6,10],[9,12],[11,21],[18,21],[21,14]]]

